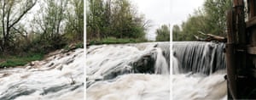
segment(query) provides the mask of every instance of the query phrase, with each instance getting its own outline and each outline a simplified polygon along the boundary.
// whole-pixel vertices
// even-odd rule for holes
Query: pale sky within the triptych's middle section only
[[[137,7],[139,14],[144,14],[146,19],[150,19],[151,27],[148,29],[147,38],[154,40],[155,30],[160,25],[170,25],[171,0],[130,0]]]

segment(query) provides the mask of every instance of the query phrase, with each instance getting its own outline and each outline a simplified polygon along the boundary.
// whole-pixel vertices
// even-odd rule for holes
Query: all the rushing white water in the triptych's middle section
[[[90,46],[87,100],[170,99],[169,51],[169,42]]]

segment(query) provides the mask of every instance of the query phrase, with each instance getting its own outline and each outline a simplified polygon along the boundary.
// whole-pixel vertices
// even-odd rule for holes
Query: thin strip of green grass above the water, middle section
[[[89,45],[100,45],[100,44],[124,44],[124,43],[137,43],[137,42],[148,42],[147,39],[134,39],[134,38],[115,38],[115,37],[107,37],[102,40],[92,40],[87,42]]]

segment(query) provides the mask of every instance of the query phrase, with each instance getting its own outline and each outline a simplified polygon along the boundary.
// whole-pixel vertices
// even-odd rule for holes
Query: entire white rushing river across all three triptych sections
[[[224,60],[222,44],[179,42],[173,46],[172,80],[169,42],[90,46],[86,99],[227,99],[225,66],[219,62]],[[57,51],[20,68],[1,69],[0,100],[83,100],[84,62],[84,50],[77,49]]]

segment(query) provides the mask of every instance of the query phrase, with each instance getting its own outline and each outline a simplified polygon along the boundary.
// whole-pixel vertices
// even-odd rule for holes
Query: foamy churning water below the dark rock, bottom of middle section
[[[87,89],[87,100],[169,100],[166,75],[121,75],[116,81],[101,81]]]

